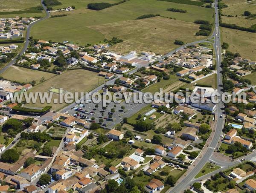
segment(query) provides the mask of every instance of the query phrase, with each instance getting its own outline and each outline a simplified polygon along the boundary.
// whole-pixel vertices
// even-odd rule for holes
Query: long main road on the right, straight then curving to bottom
[[[214,42],[214,49],[216,54],[216,66],[217,66],[217,83],[218,83],[218,92],[221,94],[222,89],[222,75],[221,75],[221,40],[220,40],[220,30],[219,30],[219,21],[218,21],[218,1],[215,0],[215,30],[213,32],[213,37],[215,39]],[[218,141],[221,136],[221,131],[224,126],[224,120],[223,118],[219,118],[222,114],[221,108],[223,107],[223,103],[220,102],[217,104],[216,109],[216,115],[218,117],[214,137],[212,138],[212,141],[210,142],[209,148],[207,149],[207,152],[205,155],[201,158],[201,160],[198,162],[198,164],[194,167],[194,169],[187,174],[187,176],[174,188],[169,189],[168,192],[172,193],[180,193],[183,190],[186,189],[186,187],[189,186],[189,184],[192,183],[194,177],[198,174],[198,172],[201,170],[201,168],[204,167],[204,164],[209,161],[209,158],[212,156],[212,153],[214,152]]]

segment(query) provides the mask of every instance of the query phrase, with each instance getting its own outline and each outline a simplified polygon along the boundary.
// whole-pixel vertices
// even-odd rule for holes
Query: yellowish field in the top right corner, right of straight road
[[[228,7],[222,9],[222,14],[242,16],[244,11],[249,11],[252,14],[256,13],[256,5],[252,3],[246,3],[246,0],[223,0]]]

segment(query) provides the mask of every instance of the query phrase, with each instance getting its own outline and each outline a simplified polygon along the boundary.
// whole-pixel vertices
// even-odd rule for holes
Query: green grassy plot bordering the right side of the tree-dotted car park
[[[146,107],[144,107],[144,108],[141,109],[139,112],[137,112],[137,113],[135,113],[134,115],[132,115],[131,117],[129,117],[129,118],[128,118],[128,123],[130,123],[130,124],[135,124],[136,121],[143,120],[143,117],[144,117],[145,113],[148,112],[148,111],[150,111],[150,110],[152,110],[152,109],[155,109],[156,112],[152,113],[151,115],[156,115],[157,117],[154,118],[154,119],[150,119],[149,117],[150,117],[151,115],[149,115],[149,116],[146,117],[147,119],[145,120],[145,122],[147,122],[147,123],[153,123],[155,120],[157,120],[158,118],[160,118],[163,114],[161,114],[160,112],[157,112],[157,109],[151,107],[151,104],[148,105],[148,106],[146,106]],[[140,119],[137,119],[137,117],[138,117],[139,114],[142,114],[142,117],[141,117]]]

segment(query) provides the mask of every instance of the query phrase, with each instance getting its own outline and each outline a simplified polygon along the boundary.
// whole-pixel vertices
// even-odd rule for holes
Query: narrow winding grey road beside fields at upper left
[[[12,66],[12,65],[15,63],[15,61],[16,61],[17,58],[18,58],[18,55],[22,55],[22,54],[26,51],[26,49],[27,49],[28,46],[29,46],[29,34],[30,34],[30,30],[31,30],[32,26],[34,26],[36,23],[38,23],[38,22],[40,22],[40,21],[42,21],[42,20],[47,19],[47,18],[50,16],[49,12],[47,12],[47,7],[44,6],[44,4],[43,4],[43,0],[41,0],[41,4],[42,4],[42,6],[43,6],[43,8],[44,8],[44,11],[46,12],[46,16],[45,16],[45,17],[42,17],[42,18],[39,19],[39,20],[36,20],[36,21],[30,23],[30,24],[27,26],[27,28],[26,28],[25,45],[24,45],[23,48],[21,49],[20,53],[17,54],[3,69],[0,70],[0,74],[2,74],[4,71],[6,71],[6,69],[8,69],[10,66]]]

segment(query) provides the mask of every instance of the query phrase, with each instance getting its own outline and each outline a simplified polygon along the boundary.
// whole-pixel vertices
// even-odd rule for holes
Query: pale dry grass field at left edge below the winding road
[[[1,77],[10,81],[18,81],[21,83],[29,83],[31,81],[36,81],[36,84],[40,83],[40,79],[42,77],[44,77],[45,80],[47,80],[54,76],[56,75],[52,73],[22,68],[19,66],[11,66],[1,74]]]

